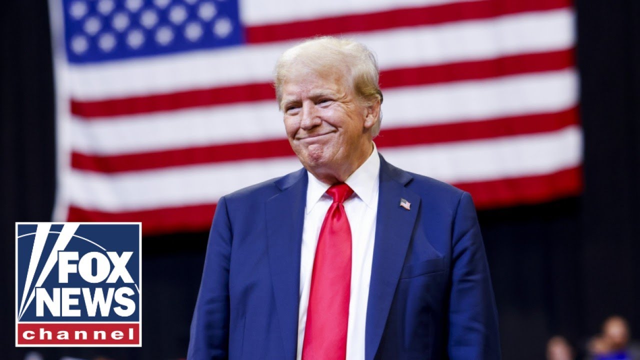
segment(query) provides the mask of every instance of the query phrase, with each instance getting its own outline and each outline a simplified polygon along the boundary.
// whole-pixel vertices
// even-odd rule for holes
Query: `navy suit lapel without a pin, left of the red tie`
[[[298,346],[300,248],[307,181],[304,169],[283,177],[276,181],[282,192],[266,202],[269,268],[285,359],[295,359]]]

